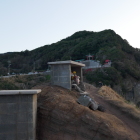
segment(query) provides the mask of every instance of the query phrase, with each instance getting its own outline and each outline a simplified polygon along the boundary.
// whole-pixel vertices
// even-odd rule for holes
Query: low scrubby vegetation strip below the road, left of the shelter
[[[0,78],[0,90],[31,89],[32,87],[50,82],[50,75],[19,75]]]

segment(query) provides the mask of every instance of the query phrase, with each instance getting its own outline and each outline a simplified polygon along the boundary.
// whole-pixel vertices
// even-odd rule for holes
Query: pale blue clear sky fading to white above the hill
[[[112,29],[140,48],[140,0],[0,0],[0,53],[56,43],[78,31]]]

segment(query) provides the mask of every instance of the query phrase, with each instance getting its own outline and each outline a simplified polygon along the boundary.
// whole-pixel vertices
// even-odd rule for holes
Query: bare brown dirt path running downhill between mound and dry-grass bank
[[[95,99],[99,104],[105,107],[105,113],[112,114],[116,116],[118,119],[120,119],[126,128],[132,133],[132,135],[135,136],[136,140],[140,140],[140,125],[137,123],[134,119],[130,118],[129,116],[125,115],[125,113],[121,112],[120,110],[117,110],[113,106],[111,106],[109,103],[107,103],[106,100],[101,98],[98,95],[99,88],[96,88],[90,84],[85,83],[86,85],[86,91],[90,93],[90,96]]]

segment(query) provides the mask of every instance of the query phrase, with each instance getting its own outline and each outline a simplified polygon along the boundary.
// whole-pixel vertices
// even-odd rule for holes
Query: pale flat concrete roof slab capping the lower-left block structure
[[[38,94],[41,89],[33,90],[0,90],[0,95]]]

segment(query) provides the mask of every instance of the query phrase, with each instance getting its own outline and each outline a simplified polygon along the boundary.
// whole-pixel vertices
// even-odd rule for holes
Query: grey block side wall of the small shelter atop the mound
[[[51,65],[51,80],[53,85],[71,89],[71,66],[69,64]]]

